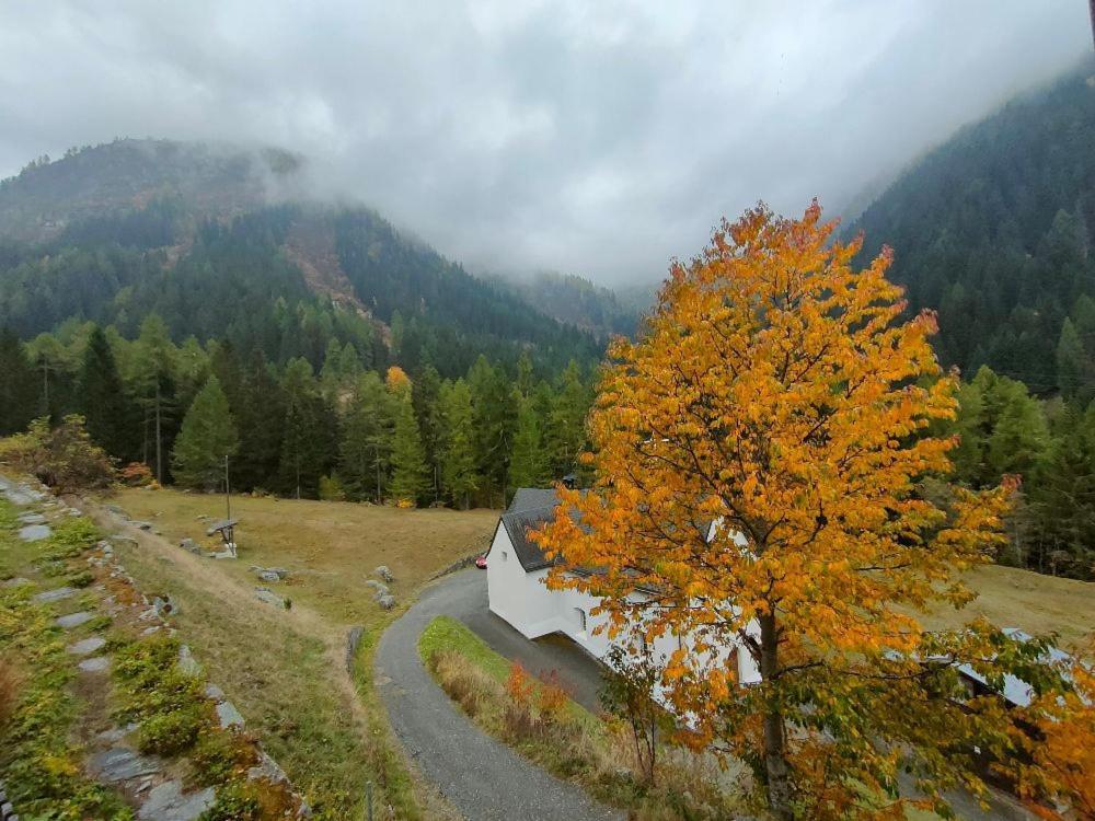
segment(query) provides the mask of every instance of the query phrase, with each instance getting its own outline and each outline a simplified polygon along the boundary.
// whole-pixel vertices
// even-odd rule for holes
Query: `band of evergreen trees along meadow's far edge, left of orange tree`
[[[175,345],[158,314],[134,339],[94,323],[25,345],[3,332],[0,369],[0,435],[78,413],[161,483],[215,489],[228,456],[241,490],[415,505],[497,507],[575,472],[592,401],[574,361],[542,379],[528,355],[511,369],[481,355],[454,379],[431,365],[412,379],[332,337],[316,372],[230,340]]]

